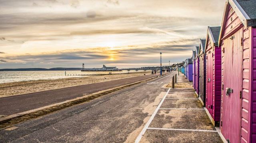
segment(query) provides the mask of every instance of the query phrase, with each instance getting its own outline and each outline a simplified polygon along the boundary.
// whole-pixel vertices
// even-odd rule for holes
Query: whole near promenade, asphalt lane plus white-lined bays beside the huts
[[[2,129],[0,142],[222,143],[192,83],[166,88],[176,73]]]

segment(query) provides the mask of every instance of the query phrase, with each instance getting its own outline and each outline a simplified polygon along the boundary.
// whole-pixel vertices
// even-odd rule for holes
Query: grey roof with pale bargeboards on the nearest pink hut
[[[226,0],[224,14],[222,17],[222,24],[219,39],[219,44],[222,39],[222,34],[226,25],[226,18],[228,16],[228,6],[230,5],[232,9],[236,12],[237,16],[241,20],[245,27],[255,27],[256,26],[256,10],[255,10],[256,0]],[[219,45],[218,45],[219,46]]]

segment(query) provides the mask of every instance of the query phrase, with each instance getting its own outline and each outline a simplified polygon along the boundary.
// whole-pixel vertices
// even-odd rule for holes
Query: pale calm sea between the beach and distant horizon
[[[127,73],[128,71],[114,71],[114,73]],[[136,72],[136,71],[130,71]],[[141,71],[137,71],[141,72]],[[0,83],[19,82],[30,80],[52,80],[70,77],[84,77],[84,74],[108,74],[109,72],[81,72],[81,71],[0,71]],[[83,74],[83,75],[81,75]],[[68,76],[69,75],[69,76]]]

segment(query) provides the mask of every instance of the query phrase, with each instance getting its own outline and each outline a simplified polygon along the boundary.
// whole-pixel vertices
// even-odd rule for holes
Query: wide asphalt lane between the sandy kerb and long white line
[[[172,74],[0,130],[0,142],[134,142]]]

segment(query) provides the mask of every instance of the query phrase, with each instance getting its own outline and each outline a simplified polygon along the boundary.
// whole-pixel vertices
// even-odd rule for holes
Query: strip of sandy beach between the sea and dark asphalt
[[[22,82],[9,82],[0,84],[0,97],[13,96],[18,94],[26,94],[32,92],[40,92],[45,90],[53,90],[84,84],[92,84],[98,82],[106,82],[110,80],[118,80],[136,76],[151,74],[150,72],[137,72],[129,74],[112,74],[102,76],[85,76],[75,78],[63,78],[56,80],[32,80]]]

